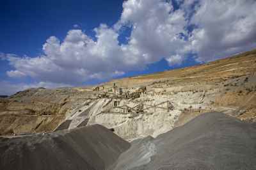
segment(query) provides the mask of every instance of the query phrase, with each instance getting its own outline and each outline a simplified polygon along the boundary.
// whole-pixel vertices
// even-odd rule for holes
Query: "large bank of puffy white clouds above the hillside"
[[[212,61],[256,47],[254,0],[128,0],[114,26],[100,24],[95,38],[81,29],[68,31],[64,40],[49,37],[35,58],[1,54],[12,70],[10,77],[32,77],[36,82],[82,84],[141,70],[163,58],[180,65],[188,57]],[[127,43],[118,42],[124,27]]]

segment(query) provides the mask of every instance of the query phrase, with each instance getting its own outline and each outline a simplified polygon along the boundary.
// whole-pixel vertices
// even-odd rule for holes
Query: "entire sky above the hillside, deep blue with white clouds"
[[[95,84],[253,49],[255,7],[253,0],[1,1],[0,95]]]

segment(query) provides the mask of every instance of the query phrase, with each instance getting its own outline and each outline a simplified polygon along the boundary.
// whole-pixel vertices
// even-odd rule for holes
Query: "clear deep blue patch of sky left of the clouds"
[[[63,39],[75,24],[92,36],[100,23],[115,24],[122,1],[8,0],[0,10],[1,52],[37,56],[49,36]]]

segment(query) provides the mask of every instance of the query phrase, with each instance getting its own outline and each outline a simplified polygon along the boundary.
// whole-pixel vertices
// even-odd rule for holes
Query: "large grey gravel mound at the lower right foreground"
[[[255,169],[256,125],[220,112],[132,142],[111,169]]]

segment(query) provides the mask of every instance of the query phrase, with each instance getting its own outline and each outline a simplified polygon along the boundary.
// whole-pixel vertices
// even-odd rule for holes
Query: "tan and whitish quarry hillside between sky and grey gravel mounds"
[[[0,98],[0,135],[100,124],[127,141],[157,137],[211,111],[256,121],[256,50],[98,86],[27,89]]]

